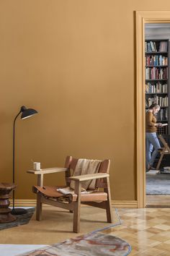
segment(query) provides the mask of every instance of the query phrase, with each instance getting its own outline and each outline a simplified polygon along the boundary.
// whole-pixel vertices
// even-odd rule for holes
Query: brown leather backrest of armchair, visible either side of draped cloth
[[[70,185],[70,181],[68,180],[68,177],[71,176],[71,169],[73,171],[75,170],[78,160],[79,160],[79,158],[73,158],[72,156],[67,156],[66,157],[65,168],[68,168],[68,171],[66,171],[66,184],[67,184],[67,186]],[[109,165],[110,165],[109,159],[103,160],[101,162],[100,166],[99,166],[99,172],[109,174]],[[106,179],[97,179],[96,187],[107,188]]]

